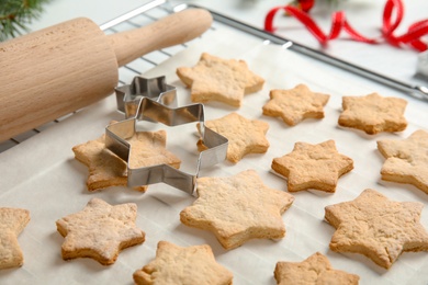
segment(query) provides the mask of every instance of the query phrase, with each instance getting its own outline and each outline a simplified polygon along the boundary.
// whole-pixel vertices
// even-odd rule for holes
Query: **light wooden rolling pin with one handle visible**
[[[105,35],[79,18],[0,43],[0,141],[112,94],[119,67],[198,37],[211,24],[206,10],[188,9]]]

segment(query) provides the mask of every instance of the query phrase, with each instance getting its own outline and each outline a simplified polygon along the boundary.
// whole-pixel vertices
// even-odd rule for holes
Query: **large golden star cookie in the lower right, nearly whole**
[[[351,202],[325,208],[336,228],[330,249],[361,253],[390,269],[403,251],[428,251],[428,233],[419,223],[423,208],[423,203],[394,202],[364,190]]]

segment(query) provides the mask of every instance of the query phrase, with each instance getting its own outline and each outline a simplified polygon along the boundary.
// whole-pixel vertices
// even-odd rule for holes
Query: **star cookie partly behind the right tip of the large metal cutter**
[[[266,134],[269,124],[259,119],[249,119],[237,113],[230,113],[217,119],[205,122],[205,126],[229,140],[227,160],[237,163],[248,153],[264,153],[270,146]],[[200,150],[204,149],[202,141]]]

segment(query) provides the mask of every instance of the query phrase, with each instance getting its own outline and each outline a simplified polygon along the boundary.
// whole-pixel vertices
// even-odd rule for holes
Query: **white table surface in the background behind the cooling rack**
[[[109,20],[126,13],[148,0],[53,0],[44,7],[42,16],[33,21],[31,30],[40,30],[55,23],[77,16],[88,16],[95,23],[102,24]],[[213,11],[248,23],[256,27],[263,27],[267,12],[277,5],[284,5],[288,0],[171,0],[171,4],[192,3],[205,7]],[[330,14],[335,10],[343,10],[351,25],[368,37],[380,35],[382,26],[382,13],[386,1],[372,0],[345,0],[338,1],[338,5],[328,4],[328,1],[317,1],[312,16],[325,31],[330,29]],[[404,33],[407,27],[423,19],[428,18],[428,1],[405,0],[405,15],[396,30],[396,35]],[[277,33],[299,44],[322,48],[315,37],[307,32],[303,25],[293,18],[280,15],[275,16],[274,25]],[[386,44],[368,45],[348,41],[346,34],[340,35],[340,39],[335,39],[323,48],[328,55],[345,59],[358,66],[382,75],[398,79],[404,82],[426,84],[426,82],[414,78],[417,67],[418,53],[410,48],[396,48]],[[427,37],[428,41],[428,37]]]

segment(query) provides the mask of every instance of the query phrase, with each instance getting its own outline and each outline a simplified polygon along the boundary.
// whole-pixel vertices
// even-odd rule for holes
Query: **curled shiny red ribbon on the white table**
[[[275,27],[273,26],[273,18],[278,11],[284,10],[290,15],[296,18],[303,23],[306,29],[318,39],[322,45],[326,45],[328,41],[335,39],[339,36],[343,30],[347,32],[353,41],[363,42],[368,44],[380,44],[380,38],[370,38],[358,33],[347,21],[345,12],[335,12],[331,16],[331,30],[326,35],[319,26],[312,20],[312,18],[302,10],[292,7],[275,7],[271,9],[264,19],[264,30],[273,33]],[[395,15],[395,19],[393,19]],[[428,19],[418,21],[412,24],[407,32],[401,36],[395,36],[394,31],[398,27],[404,16],[404,7],[401,0],[387,0],[383,10],[383,26],[382,36],[383,39],[393,46],[399,47],[401,45],[410,45],[418,52],[425,52],[428,49],[428,44],[424,43],[420,38],[424,35],[428,35]]]

